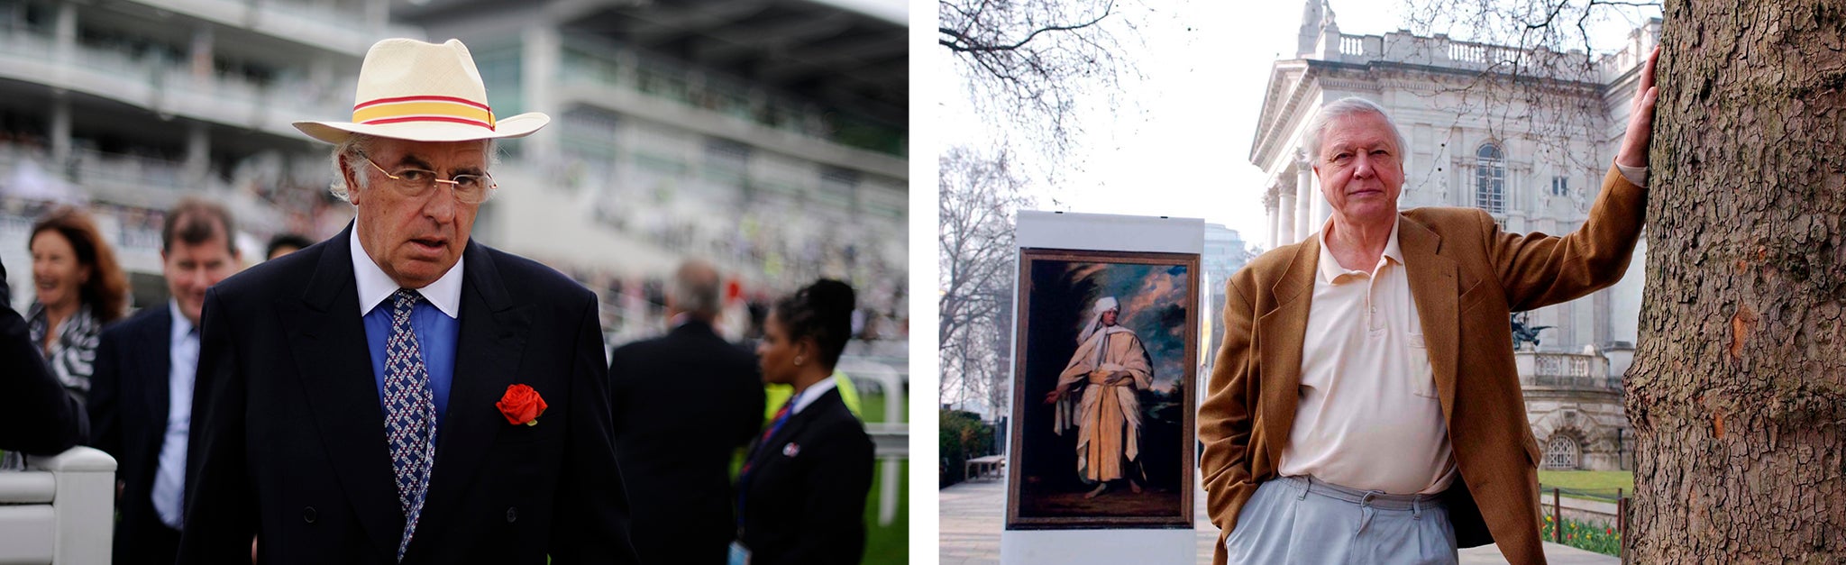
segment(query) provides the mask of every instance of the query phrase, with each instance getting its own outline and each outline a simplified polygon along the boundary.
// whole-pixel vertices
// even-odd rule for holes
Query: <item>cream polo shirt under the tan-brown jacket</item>
[[[1342,268],[1325,233],[1316,234],[1301,340],[1301,404],[1277,473],[1392,495],[1440,493],[1455,480],[1455,451],[1397,225],[1372,271]]]

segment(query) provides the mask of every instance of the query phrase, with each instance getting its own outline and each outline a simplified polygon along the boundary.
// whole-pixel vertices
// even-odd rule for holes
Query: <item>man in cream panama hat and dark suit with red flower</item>
[[[179,563],[635,563],[596,297],[469,238],[497,118],[460,41],[386,39],[338,236],[205,297]]]

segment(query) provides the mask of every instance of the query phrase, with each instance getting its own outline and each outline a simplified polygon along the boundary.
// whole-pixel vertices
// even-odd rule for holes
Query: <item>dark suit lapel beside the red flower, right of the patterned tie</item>
[[[480,471],[506,417],[495,403],[515,384],[530,305],[513,305],[493,257],[474,242],[463,251],[467,266],[462,282],[462,329],[456,334],[456,373],[449,390],[449,410],[438,427],[436,467],[430,469],[428,502],[419,523],[419,541],[441,539],[438,528]],[[561,425],[561,423],[554,423]],[[426,526],[426,528],[425,528]]]

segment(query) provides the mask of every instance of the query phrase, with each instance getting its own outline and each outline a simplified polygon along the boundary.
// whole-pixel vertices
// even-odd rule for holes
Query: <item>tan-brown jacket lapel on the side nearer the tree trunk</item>
[[[1456,264],[1440,255],[1442,236],[1407,216],[1397,220],[1397,247],[1403,249],[1410,297],[1416,299],[1416,316],[1421,318],[1429,367],[1436,377],[1436,395],[1442,397],[1442,419],[1453,427],[1449,417],[1455,414],[1455,366],[1460,358]]]

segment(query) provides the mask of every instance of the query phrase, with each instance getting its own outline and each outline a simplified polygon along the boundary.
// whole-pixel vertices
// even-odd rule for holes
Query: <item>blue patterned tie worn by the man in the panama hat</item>
[[[391,469],[397,471],[397,504],[404,510],[397,561],[404,561],[410,535],[417,532],[430,465],[436,463],[436,397],[430,395],[430,371],[423,366],[417,331],[410,327],[410,310],[421,299],[408,288],[391,294],[391,336],[384,342],[384,432]]]

